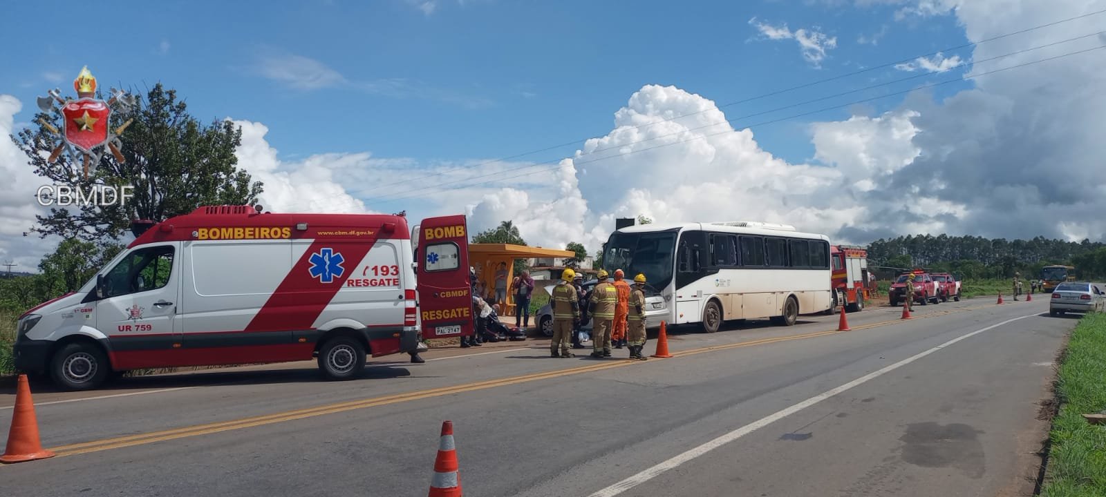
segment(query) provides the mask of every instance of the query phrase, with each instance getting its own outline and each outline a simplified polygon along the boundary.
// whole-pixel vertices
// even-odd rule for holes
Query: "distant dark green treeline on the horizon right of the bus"
[[[963,278],[1008,278],[1020,272],[1035,278],[1041,267],[1066,264],[1079,277],[1106,276],[1106,244],[1084,240],[1067,242],[1037,236],[1033,240],[982,236],[907,235],[876,240],[868,245],[868,264],[884,266],[877,275],[889,277],[891,268],[926,267],[959,274]]]

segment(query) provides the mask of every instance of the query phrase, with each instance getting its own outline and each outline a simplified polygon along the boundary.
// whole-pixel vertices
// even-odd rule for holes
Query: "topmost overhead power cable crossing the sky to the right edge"
[[[794,92],[796,89],[808,88],[811,86],[821,85],[823,83],[828,83],[828,82],[832,82],[832,81],[837,81],[837,80],[846,78],[846,77],[849,77],[849,76],[855,76],[855,75],[858,75],[858,74],[868,73],[868,72],[872,72],[872,71],[880,70],[880,68],[891,67],[894,65],[905,64],[905,63],[908,63],[908,62],[914,62],[914,61],[917,61],[918,59],[930,57],[930,56],[942,54],[942,53],[946,53],[946,52],[953,52],[953,51],[957,51],[957,50],[967,49],[967,47],[970,47],[970,46],[975,46],[975,45],[980,45],[982,43],[989,43],[989,42],[997,41],[997,40],[1002,40],[1002,39],[1005,39],[1005,38],[1018,35],[1018,34],[1024,34],[1024,33],[1027,33],[1027,32],[1031,32],[1031,31],[1036,31],[1036,30],[1040,30],[1040,29],[1050,28],[1050,27],[1062,24],[1062,23],[1065,23],[1065,22],[1071,22],[1071,21],[1075,21],[1075,20],[1088,18],[1088,17],[1092,17],[1092,15],[1097,15],[1097,14],[1100,14],[1100,13],[1104,13],[1104,12],[1106,12],[1106,9],[1097,10],[1097,11],[1094,11],[1094,12],[1087,12],[1087,13],[1075,15],[1075,17],[1067,18],[1067,19],[1061,19],[1058,21],[1053,21],[1053,22],[1048,22],[1048,23],[1045,23],[1045,24],[1040,24],[1040,25],[1035,25],[1035,27],[1032,27],[1032,28],[1026,28],[1026,29],[1023,29],[1023,30],[1013,31],[1013,32],[1005,33],[1005,34],[1000,34],[1000,35],[997,35],[997,36],[991,36],[991,38],[988,38],[988,39],[980,40],[978,42],[971,42],[971,43],[964,43],[964,44],[960,44],[960,45],[956,45],[956,46],[950,46],[950,47],[947,47],[947,49],[943,49],[943,50],[938,50],[936,52],[929,52],[929,53],[926,53],[926,54],[911,56],[909,59],[904,59],[904,60],[900,60],[900,61],[888,62],[888,63],[885,63],[885,64],[879,64],[879,65],[875,65],[875,66],[872,66],[872,67],[866,67],[866,68],[863,68],[863,70],[853,71],[853,72],[841,74],[841,75],[837,75],[837,76],[826,77],[826,78],[823,78],[823,80],[817,80],[817,81],[813,81],[813,82],[810,82],[810,83],[804,83],[804,84],[801,84],[801,85],[791,86],[791,87],[783,88],[783,89],[778,89],[778,91],[774,91],[774,92],[770,92],[770,93],[765,93],[765,94],[752,96],[752,97],[749,97],[749,98],[743,98],[743,99],[740,99],[740,101],[730,102],[730,103],[722,104],[722,105],[716,105],[714,108],[721,109],[721,108],[734,106],[734,105],[738,105],[738,104],[745,104],[745,103],[749,103],[749,102],[754,102],[754,101],[759,101],[759,99],[762,99],[762,98],[768,98],[768,97],[771,97],[771,96],[776,96],[776,95],[781,95],[781,94],[784,94],[784,93]],[[670,120],[676,120],[676,119],[681,119],[681,118],[685,118],[685,117],[696,116],[696,115],[699,115],[699,114],[702,114],[702,113],[707,113],[707,112],[710,112],[710,110],[713,110],[713,108],[698,110],[698,112],[689,113],[689,114],[682,114],[682,115],[679,115],[679,116],[669,117],[669,118],[657,120],[657,121],[653,121],[653,123],[646,123],[646,124],[643,124],[643,125],[632,126],[630,128],[632,129],[639,129],[639,128],[644,128],[644,127],[647,127],[647,126],[653,126],[653,125],[657,125],[657,124],[661,124],[661,123],[667,123],[667,121],[670,121]],[[490,166],[490,165],[493,165],[493,163],[497,163],[497,162],[503,162],[503,161],[511,160],[511,159],[518,159],[518,158],[521,158],[521,157],[532,156],[534,154],[541,154],[541,152],[544,152],[544,151],[555,150],[557,148],[563,148],[563,147],[567,147],[567,146],[571,146],[571,145],[576,145],[576,144],[578,144],[581,141],[587,141],[591,138],[593,138],[593,137],[587,137],[587,138],[583,138],[583,139],[576,139],[576,140],[572,140],[572,141],[566,141],[566,142],[563,142],[563,144],[560,144],[560,145],[554,145],[554,146],[545,147],[545,148],[538,149],[538,150],[531,150],[531,151],[528,151],[528,152],[515,154],[513,156],[507,156],[507,157],[502,157],[502,158],[499,158],[499,159],[486,160],[486,161],[478,162],[478,163],[474,163],[474,165],[471,165],[471,166],[465,166],[465,167],[453,168],[453,169],[450,169],[448,171],[439,171],[439,172],[436,172],[434,175],[429,175],[429,177],[442,176],[442,175],[445,175],[447,172],[452,172],[452,171],[457,171],[457,170],[463,170],[463,169],[470,169],[470,168],[479,168],[479,167],[482,167],[482,166]],[[408,182],[411,182],[411,181],[424,180],[424,179],[426,179],[426,177],[408,178],[408,179],[404,179],[404,180],[400,180],[400,181],[394,181],[394,182],[390,182],[390,183],[375,184],[375,186],[373,186],[373,187],[371,187],[371,188],[368,188],[366,190],[361,190],[361,191],[364,192],[364,191],[369,191],[369,190],[374,190],[374,189],[378,189],[378,188],[392,187],[392,186],[395,186],[395,184],[403,184],[403,183],[408,183]]]

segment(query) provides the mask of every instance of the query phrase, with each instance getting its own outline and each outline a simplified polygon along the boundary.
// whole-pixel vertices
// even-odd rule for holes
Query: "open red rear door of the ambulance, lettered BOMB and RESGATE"
[[[422,220],[418,228],[418,306],[422,338],[473,332],[469,240],[465,215]]]

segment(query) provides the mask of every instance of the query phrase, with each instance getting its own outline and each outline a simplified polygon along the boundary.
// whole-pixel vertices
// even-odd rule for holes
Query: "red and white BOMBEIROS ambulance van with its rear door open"
[[[113,371],[311,358],[354,378],[366,355],[416,350],[420,331],[473,331],[465,216],[416,230],[403,215],[249,205],[170,218],[79,292],[23,314],[15,367],[71,390]]]

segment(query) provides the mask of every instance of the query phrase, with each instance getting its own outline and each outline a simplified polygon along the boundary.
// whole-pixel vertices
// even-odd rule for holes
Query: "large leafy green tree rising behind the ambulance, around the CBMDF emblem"
[[[133,186],[134,198],[111,207],[80,205],[75,212],[51,208],[40,215],[32,232],[45,237],[58,234],[85,241],[118,240],[134,219],[161,221],[191,212],[200,205],[251,204],[261,193],[261,183],[237,168],[234,149],[242,131],[228,120],[202,125],[188,114],[174,89],[154,85],[131,115],[113,113],[111,127],[134,121],[121,136],[126,159],[118,162],[104,154],[94,172],[84,178],[83,165],[62,155],[46,162],[58,137],[41,121],[61,129],[61,113],[39,113],[38,126],[12,137],[27,155],[34,172],[54,184],[81,191],[96,186]]]

